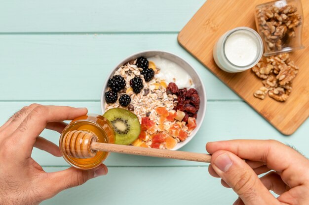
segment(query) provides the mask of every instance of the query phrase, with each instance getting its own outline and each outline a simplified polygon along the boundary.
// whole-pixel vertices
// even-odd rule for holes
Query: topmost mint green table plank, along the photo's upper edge
[[[177,32],[205,0],[1,1],[0,32]]]

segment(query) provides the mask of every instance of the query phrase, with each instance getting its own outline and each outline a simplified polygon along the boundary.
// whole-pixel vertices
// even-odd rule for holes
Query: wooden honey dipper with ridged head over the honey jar
[[[207,163],[211,160],[211,155],[203,153],[98,143],[97,136],[81,130],[67,132],[63,138],[62,148],[68,155],[75,158],[91,158],[97,151],[106,151]]]

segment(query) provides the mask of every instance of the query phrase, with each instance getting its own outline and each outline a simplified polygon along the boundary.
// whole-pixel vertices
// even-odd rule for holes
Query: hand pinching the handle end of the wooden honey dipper
[[[238,194],[234,205],[309,205],[309,160],[291,147],[273,140],[232,140],[208,143],[206,149],[212,154],[210,175]]]

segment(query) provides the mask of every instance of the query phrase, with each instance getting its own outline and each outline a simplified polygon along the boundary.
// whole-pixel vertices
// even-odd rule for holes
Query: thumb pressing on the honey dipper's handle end
[[[211,157],[211,166],[245,205],[277,205],[279,203],[251,167],[232,152],[216,151]]]

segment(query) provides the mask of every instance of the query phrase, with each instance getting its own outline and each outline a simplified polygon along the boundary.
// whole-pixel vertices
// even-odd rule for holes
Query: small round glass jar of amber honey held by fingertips
[[[59,147],[63,158],[73,167],[78,169],[93,169],[108,157],[109,152],[94,151],[93,157],[90,158],[77,158],[72,154],[67,154],[70,150],[64,150],[65,142],[64,136],[70,131],[84,131],[91,133],[97,137],[99,143],[113,143],[115,142],[115,130],[111,122],[103,116],[89,114],[86,116],[78,117],[71,121],[70,124],[63,130],[60,136]],[[76,142],[78,144],[79,142]],[[90,142],[91,143],[91,142]],[[80,146],[80,145],[78,145]],[[71,153],[74,153],[73,151]]]

